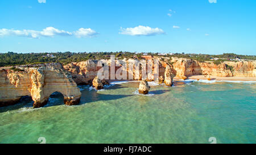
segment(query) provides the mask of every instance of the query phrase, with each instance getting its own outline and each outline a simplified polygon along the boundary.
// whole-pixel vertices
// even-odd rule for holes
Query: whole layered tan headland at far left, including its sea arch
[[[33,107],[42,107],[56,91],[63,94],[64,104],[74,105],[80,101],[81,93],[71,74],[61,65],[39,68],[20,68],[23,71],[0,70],[0,106],[15,104],[23,96],[31,96]]]

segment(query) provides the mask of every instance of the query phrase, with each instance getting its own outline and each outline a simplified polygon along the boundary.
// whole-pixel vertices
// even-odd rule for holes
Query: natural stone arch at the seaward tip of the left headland
[[[64,104],[68,106],[79,104],[81,92],[69,74],[62,70],[46,69],[40,71],[42,72],[31,74],[31,78],[34,79],[31,89],[31,96],[35,101],[34,108],[45,106],[51,94],[55,92],[63,95]]]

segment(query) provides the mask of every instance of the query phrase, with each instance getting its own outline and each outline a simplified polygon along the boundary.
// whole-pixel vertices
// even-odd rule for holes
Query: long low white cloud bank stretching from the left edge
[[[47,27],[44,28],[42,31],[35,31],[35,30],[9,30],[6,28],[0,29],[0,37],[2,36],[24,36],[24,37],[32,37],[32,38],[39,38],[39,37],[53,37],[53,36],[73,36],[76,35],[77,37],[85,37],[85,36],[93,36],[97,32],[90,28],[80,28],[78,31],[75,32],[68,32],[64,30],[59,30],[54,27]]]

